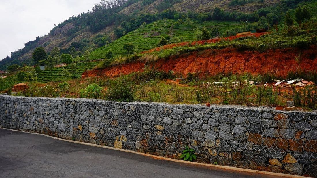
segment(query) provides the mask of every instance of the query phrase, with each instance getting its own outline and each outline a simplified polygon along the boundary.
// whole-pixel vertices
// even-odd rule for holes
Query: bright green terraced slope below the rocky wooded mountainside
[[[212,27],[217,26],[220,29],[220,33],[223,33],[227,29],[236,27],[242,27],[243,24],[239,22],[231,21],[192,21],[191,24],[183,22],[179,28],[172,27],[175,20],[167,19],[166,26],[164,20],[156,21],[157,25],[153,23],[147,24],[145,27],[140,27],[135,31],[129,32],[119,39],[113,41],[108,46],[102,46],[91,52],[91,59],[105,58],[105,54],[111,50],[114,56],[127,55],[126,50],[123,50],[125,43],[132,42],[138,46],[138,51],[147,51],[155,48],[162,36],[171,35],[178,38],[182,38],[184,41],[194,41],[196,36],[194,30],[198,27],[202,29],[206,27],[211,30]],[[160,32],[160,33],[159,33]],[[159,34],[158,36],[153,34]]]

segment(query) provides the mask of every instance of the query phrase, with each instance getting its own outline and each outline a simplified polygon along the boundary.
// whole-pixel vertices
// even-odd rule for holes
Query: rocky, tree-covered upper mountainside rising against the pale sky
[[[37,37],[36,40],[25,43],[25,47],[22,50],[13,52],[11,58],[6,58],[0,61],[0,69],[5,70],[10,64],[21,64],[19,61],[24,61],[23,63],[29,64],[32,61],[31,53],[39,46],[43,46],[45,51],[48,53],[55,46],[60,47],[62,49],[61,52],[63,53],[70,53],[70,48],[75,46],[75,55],[81,56],[84,52],[81,51],[83,50],[83,47],[89,47],[93,43],[97,47],[105,44],[105,40],[102,42],[99,40],[99,42],[97,42],[98,39],[96,40],[96,38],[100,36],[102,38],[104,37],[104,39],[109,41],[110,44],[122,36],[122,32],[128,34],[126,39],[123,40],[129,40],[134,37],[139,38],[143,35],[140,34],[141,32],[136,33],[136,36],[134,36],[131,32],[133,32],[134,29],[137,29],[143,22],[151,23],[158,20],[157,29],[154,27],[151,28],[153,28],[152,30],[154,31],[160,30],[161,34],[159,36],[162,36],[168,28],[171,28],[174,14],[179,14],[179,18],[182,18],[183,15],[184,18],[186,16],[190,17],[192,24],[186,25],[182,23],[181,28],[178,30],[171,29],[168,30],[168,32],[170,32],[171,35],[182,37],[184,40],[195,40],[192,35],[192,29],[196,27],[211,27],[220,25],[221,32],[227,28],[226,26],[228,26],[228,28],[234,28],[237,26],[243,27],[243,24],[239,25],[241,18],[246,18],[248,15],[252,15],[252,12],[255,10],[274,6],[278,3],[278,1],[275,0],[264,0],[261,3],[259,3],[258,0],[254,0],[249,1],[250,3],[243,3],[242,5],[230,5],[231,0],[120,0],[118,1],[120,3],[114,2],[117,1],[111,1],[109,4],[95,5],[92,11],[81,13],[78,16],[73,16],[58,24],[47,35]],[[226,20],[212,21],[214,19],[212,14],[215,8],[222,9],[220,13],[223,13]],[[151,15],[149,16],[147,13]],[[168,19],[166,22],[167,26],[162,26],[162,24],[159,25],[164,16]],[[204,20],[199,20],[200,17]],[[133,24],[131,24],[131,27],[126,26],[126,24],[125,26],[122,26],[121,22],[125,21]],[[235,26],[233,24],[235,24]],[[121,34],[119,35],[115,31],[117,28],[122,29],[120,31]],[[185,30],[182,31],[182,28]],[[182,34],[183,32],[186,33]],[[124,37],[125,36],[126,35],[124,35]],[[148,47],[140,45],[140,50],[148,50],[154,47],[159,37],[156,38],[156,40],[151,40]],[[143,44],[142,41],[139,43]],[[117,45],[114,44],[113,46]],[[115,54],[122,54],[111,46],[109,49],[114,49]],[[100,56],[98,57],[97,54],[93,54],[92,58],[100,58]]]

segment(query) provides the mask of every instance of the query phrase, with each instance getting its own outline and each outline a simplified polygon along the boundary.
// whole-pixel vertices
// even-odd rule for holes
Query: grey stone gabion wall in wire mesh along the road
[[[317,113],[0,95],[0,126],[197,161],[317,176]]]

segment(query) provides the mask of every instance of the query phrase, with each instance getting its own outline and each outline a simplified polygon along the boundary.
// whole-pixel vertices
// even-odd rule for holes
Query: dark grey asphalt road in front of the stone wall
[[[0,177],[268,177],[0,128]],[[273,176],[270,176],[273,177]]]

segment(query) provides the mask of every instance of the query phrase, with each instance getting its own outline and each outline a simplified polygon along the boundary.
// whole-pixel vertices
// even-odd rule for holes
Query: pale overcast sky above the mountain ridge
[[[0,60],[100,0],[0,0]]]

